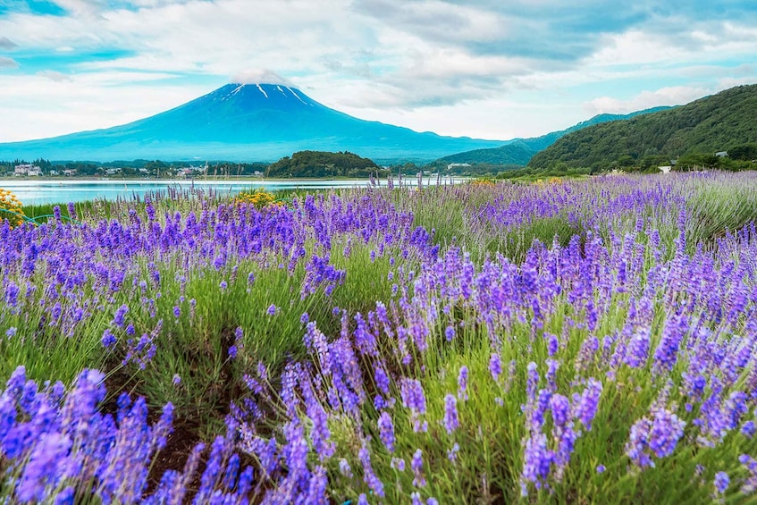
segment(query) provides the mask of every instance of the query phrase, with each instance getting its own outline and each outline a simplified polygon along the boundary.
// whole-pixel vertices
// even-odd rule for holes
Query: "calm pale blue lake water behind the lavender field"
[[[442,184],[465,181],[463,178],[442,178]],[[436,178],[424,178],[424,185],[436,184]],[[13,191],[13,194],[25,206],[39,204],[64,204],[93,199],[114,200],[116,198],[132,198],[135,195],[145,195],[147,192],[164,191],[168,188],[200,188],[214,189],[221,194],[235,195],[245,189],[262,188],[268,191],[277,189],[335,189],[335,188],[366,188],[366,179],[339,181],[177,181],[177,180],[29,180],[7,179],[0,181],[0,188]],[[396,184],[396,182],[395,182]],[[386,186],[386,181],[381,181]],[[417,185],[415,177],[403,177],[403,186]]]

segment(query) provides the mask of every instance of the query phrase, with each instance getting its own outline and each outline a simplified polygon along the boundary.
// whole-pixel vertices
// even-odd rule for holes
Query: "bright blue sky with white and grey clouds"
[[[414,130],[531,137],[757,83],[757,2],[0,0],[0,142],[240,80]]]

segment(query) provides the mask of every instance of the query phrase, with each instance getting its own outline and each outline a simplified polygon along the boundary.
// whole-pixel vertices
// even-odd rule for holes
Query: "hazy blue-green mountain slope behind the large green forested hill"
[[[641,114],[651,114],[670,107],[653,107],[643,111],[636,111],[631,114],[598,114],[584,122],[574,124],[570,128],[559,131],[551,131],[541,137],[530,139],[513,139],[509,143],[500,147],[489,147],[484,149],[475,149],[464,153],[457,153],[450,156],[443,156],[437,162],[443,163],[485,163],[485,164],[528,164],[531,158],[539,151],[550,147],[558,139],[568,133],[577,130],[583,130],[593,124],[601,122],[621,121],[630,119]]]

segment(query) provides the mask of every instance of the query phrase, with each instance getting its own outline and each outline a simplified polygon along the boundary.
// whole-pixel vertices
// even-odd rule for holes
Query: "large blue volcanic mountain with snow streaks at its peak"
[[[122,126],[0,144],[0,159],[275,161],[309,149],[351,151],[380,162],[425,162],[502,144],[360,120],[284,85],[227,84]]]

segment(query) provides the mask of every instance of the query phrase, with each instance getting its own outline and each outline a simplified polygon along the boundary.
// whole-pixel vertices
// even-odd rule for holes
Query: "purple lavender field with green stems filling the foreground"
[[[9,503],[757,500],[757,173],[0,228]]]

